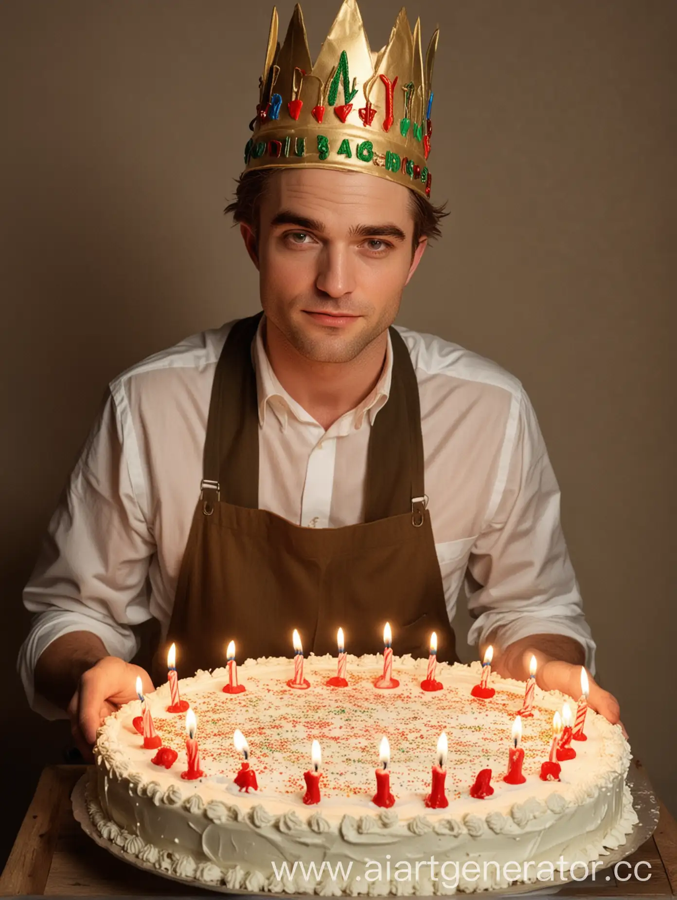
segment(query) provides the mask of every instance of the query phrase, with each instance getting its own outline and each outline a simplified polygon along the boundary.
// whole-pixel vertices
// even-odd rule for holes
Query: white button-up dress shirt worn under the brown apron
[[[91,631],[130,660],[133,626],[149,617],[163,634],[169,626],[200,495],[212,381],[231,324],[150,356],[110,384],[23,593],[38,615],[19,671],[44,716],[63,715],[33,689],[35,663],[55,638]],[[569,635],[594,671],[557,480],[521,383],[449,341],[397,330],[419,385],[425,492],[450,620],[466,577],[475,617],[469,643],[494,628],[503,646],[532,634]],[[390,390],[390,338],[373,392],[326,431],[281,386],[261,327],[252,358],[261,509],[312,528],[363,521],[370,428]]]

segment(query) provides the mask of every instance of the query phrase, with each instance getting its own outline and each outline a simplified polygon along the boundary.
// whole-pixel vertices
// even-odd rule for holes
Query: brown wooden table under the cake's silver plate
[[[70,804],[71,790],[84,772],[85,766],[49,766],[42,772],[0,877],[0,895],[215,896],[133,869],[88,838]],[[675,896],[677,823],[663,804],[654,836],[628,860],[651,863],[651,878],[617,883],[613,875],[606,881],[606,873],[598,873],[597,881],[569,882],[557,896]]]

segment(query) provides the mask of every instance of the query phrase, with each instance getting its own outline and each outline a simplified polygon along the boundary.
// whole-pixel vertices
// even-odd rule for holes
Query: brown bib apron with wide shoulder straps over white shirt
[[[393,374],[371,427],[365,521],[300,527],[259,509],[259,419],[252,342],[263,313],[239,320],[218,360],[204,447],[204,478],[176,586],[166,647],[183,675],[226,664],[236,642],[247,657],[380,653],[390,622],[396,654],[427,656],[437,632],[441,660],[458,659],[444,602],[427,498],[418,384],[405,343],[390,329]],[[339,486],[340,490],[340,486]]]

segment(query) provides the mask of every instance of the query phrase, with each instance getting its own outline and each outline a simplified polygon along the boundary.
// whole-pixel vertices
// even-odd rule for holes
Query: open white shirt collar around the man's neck
[[[263,344],[263,329],[265,328],[265,316],[261,317],[259,327],[256,329],[256,337],[252,347],[252,362],[256,374],[256,397],[258,401],[259,425],[263,428],[266,410],[271,408],[276,419],[280,422],[282,431],[287,428],[289,416],[293,416],[299,422],[308,425],[316,425],[316,420],[310,416],[303,407],[284,390],[277,375],[272,371],[272,365],[265,352]],[[387,401],[390,393],[390,384],[393,375],[393,346],[390,334],[387,334],[386,359],[379,375],[379,381],[373,391],[365,397],[354,410],[345,413],[339,419],[342,423],[340,434],[348,434],[350,430],[362,427],[365,415],[369,415],[370,424],[373,425],[376,414]]]

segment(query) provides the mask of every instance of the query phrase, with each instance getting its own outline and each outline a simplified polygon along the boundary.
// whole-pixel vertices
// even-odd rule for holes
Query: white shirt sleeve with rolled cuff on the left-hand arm
[[[130,660],[138,649],[132,626],[150,617],[147,572],[156,547],[132,478],[129,410],[119,406],[107,392],[23,591],[36,615],[17,668],[31,707],[49,719],[64,713],[35,693],[40,653],[61,635],[88,631]]]

